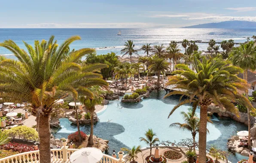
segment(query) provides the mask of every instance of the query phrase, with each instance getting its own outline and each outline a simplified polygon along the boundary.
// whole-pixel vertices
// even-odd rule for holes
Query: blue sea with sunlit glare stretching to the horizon
[[[256,35],[256,29],[181,29],[181,28],[154,28],[154,29],[120,29],[122,35],[117,35],[119,29],[0,29],[0,42],[6,39],[12,39],[21,48],[25,49],[22,41],[34,45],[34,40],[48,40],[51,35],[55,35],[58,44],[61,44],[70,36],[79,35],[81,40],[73,42],[70,49],[95,48],[97,54],[107,54],[116,52],[124,47],[128,39],[134,41],[135,48],[139,49],[143,44],[151,43],[152,45],[168,43],[172,40],[182,41],[201,40],[209,41],[215,39],[216,42],[233,39],[235,42],[245,42],[247,37]],[[197,43],[199,50],[207,50],[207,43]],[[180,45],[183,52],[184,49]],[[0,47],[0,54],[13,58],[12,54],[6,48]],[[139,52],[143,54],[143,52]]]

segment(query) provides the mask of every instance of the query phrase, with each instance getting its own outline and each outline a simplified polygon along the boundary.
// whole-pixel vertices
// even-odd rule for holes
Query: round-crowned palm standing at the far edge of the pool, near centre
[[[157,86],[160,88],[160,74],[165,73],[169,69],[168,62],[164,58],[155,57],[149,66],[149,71],[157,72]]]

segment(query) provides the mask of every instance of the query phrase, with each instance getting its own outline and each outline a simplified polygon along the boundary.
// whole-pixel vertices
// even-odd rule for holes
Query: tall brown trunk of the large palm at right
[[[200,106],[199,126],[199,163],[206,162],[207,105]]]

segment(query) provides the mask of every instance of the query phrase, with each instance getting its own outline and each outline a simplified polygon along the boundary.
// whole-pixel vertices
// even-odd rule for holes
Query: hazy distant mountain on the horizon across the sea
[[[192,25],[182,28],[229,28],[229,29],[245,29],[245,28],[256,28],[255,21],[222,21],[219,23],[206,23]]]

